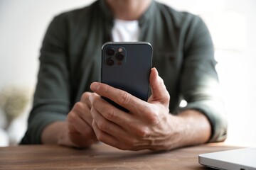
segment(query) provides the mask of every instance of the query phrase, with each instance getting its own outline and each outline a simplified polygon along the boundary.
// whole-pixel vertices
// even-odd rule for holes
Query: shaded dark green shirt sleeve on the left
[[[57,16],[46,31],[28,130],[21,144],[40,144],[46,125],[63,121],[70,110],[65,17]]]

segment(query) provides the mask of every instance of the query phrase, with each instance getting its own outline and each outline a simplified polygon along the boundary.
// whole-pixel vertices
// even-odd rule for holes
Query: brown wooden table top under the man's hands
[[[156,153],[122,151],[104,144],[90,149],[57,145],[0,147],[0,169],[206,169],[198,164],[198,154],[236,148],[208,144]]]

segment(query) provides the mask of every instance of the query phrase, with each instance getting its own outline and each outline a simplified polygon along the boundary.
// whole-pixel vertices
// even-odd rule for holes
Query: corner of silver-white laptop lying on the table
[[[199,154],[198,162],[213,169],[256,170],[256,148]]]

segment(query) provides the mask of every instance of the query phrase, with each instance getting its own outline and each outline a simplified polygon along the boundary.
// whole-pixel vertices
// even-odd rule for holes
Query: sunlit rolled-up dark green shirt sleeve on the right
[[[227,121],[215,71],[217,62],[208,28],[198,16],[191,20],[186,34],[184,56],[181,94],[188,104],[180,111],[201,111],[210,121],[212,132],[209,142],[223,141],[226,138]]]

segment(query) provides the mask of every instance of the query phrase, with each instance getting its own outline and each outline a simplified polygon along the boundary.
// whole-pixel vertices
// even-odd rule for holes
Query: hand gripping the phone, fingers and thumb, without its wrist
[[[98,140],[119,149],[166,149],[163,141],[172,131],[169,93],[156,69],[151,69],[149,81],[152,96],[148,102],[107,84],[91,85],[95,91],[90,96],[92,127]],[[100,96],[110,98],[129,113],[115,108]]]

